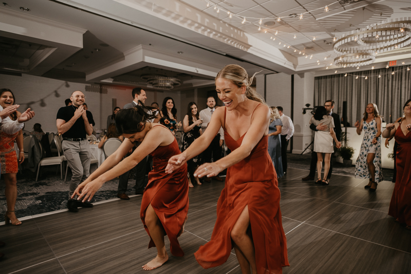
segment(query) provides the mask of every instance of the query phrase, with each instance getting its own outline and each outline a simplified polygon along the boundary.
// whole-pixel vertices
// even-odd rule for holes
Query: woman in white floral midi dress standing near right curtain
[[[370,192],[377,189],[378,182],[383,180],[381,168],[381,116],[377,105],[367,104],[364,118],[356,122],[357,134],[364,130],[364,139],[361,144],[360,155],[356,162],[356,178],[369,178],[364,188]]]

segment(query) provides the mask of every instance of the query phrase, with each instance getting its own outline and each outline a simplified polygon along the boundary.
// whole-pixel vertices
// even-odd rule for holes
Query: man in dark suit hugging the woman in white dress
[[[335,132],[335,136],[337,137],[337,140],[341,141],[341,119],[340,119],[340,115],[338,115],[337,113],[334,113],[332,111],[332,109],[334,108],[334,101],[333,100],[327,100],[324,103],[324,107],[327,109],[327,115],[332,116],[332,119],[334,120],[334,132]],[[323,124],[319,124],[317,126],[315,126],[314,124],[310,125],[310,129],[313,131],[319,131],[319,130],[323,130],[325,129],[325,125]],[[335,143],[334,143],[335,144]],[[334,154],[334,153],[333,153]],[[331,158],[333,156],[333,154],[331,154]],[[307,177],[302,178],[303,181],[312,181],[314,180],[314,176],[315,176],[315,169],[317,165],[317,153],[316,152],[312,152],[311,154],[311,164],[310,164],[310,174],[308,174]],[[330,161],[330,170],[328,171],[328,176],[327,179],[331,178],[331,173],[332,173],[332,160]]]

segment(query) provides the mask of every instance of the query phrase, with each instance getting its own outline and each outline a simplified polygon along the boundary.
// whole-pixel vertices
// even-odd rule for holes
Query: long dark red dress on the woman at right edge
[[[397,178],[388,215],[398,218],[399,223],[411,226],[411,132],[406,135],[401,130],[401,123],[395,132],[397,147]]]

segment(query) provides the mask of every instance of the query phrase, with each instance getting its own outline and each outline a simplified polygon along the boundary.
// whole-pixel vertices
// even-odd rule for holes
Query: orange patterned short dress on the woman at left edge
[[[17,173],[18,163],[16,151],[14,150],[14,140],[18,132],[7,134],[0,132],[0,161],[2,162],[2,174]]]

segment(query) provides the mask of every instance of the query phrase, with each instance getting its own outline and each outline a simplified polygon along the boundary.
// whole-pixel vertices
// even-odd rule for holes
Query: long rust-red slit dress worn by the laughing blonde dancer
[[[224,129],[224,136],[227,147],[234,151],[245,134],[234,140]],[[228,168],[211,241],[194,253],[197,262],[209,268],[227,261],[233,248],[231,230],[248,205],[257,273],[282,273],[282,267],[289,263],[279,199],[277,175],[268,154],[268,137],[264,136],[247,158]]]

